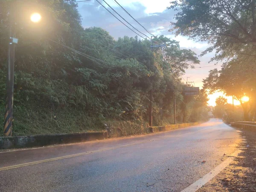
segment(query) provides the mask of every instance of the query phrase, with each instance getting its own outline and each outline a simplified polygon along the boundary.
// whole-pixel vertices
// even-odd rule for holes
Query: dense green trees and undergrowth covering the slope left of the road
[[[2,123],[10,2],[0,2]],[[97,131],[105,128],[104,123],[147,127],[151,89],[154,125],[161,124],[161,109],[163,124],[173,123],[174,98],[178,122],[208,118],[203,91],[199,96],[183,94],[188,85],[180,76],[199,63],[194,52],[164,36],[153,42],[168,47],[151,52],[149,41],[127,36],[114,40],[101,28],[83,29],[73,2],[23,0],[17,4],[13,135]],[[36,26],[19,15],[30,14],[35,7],[44,18]]]

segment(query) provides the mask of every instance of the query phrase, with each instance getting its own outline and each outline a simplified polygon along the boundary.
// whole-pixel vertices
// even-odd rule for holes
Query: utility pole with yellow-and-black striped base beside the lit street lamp
[[[6,108],[4,116],[4,136],[12,136],[12,121],[13,121],[13,87],[14,87],[14,62],[15,62],[15,44],[18,39],[15,37],[15,22],[13,16],[13,5],[10,7],[10,37],[8,49],[8,67],[7,67],[7,81],[6,81]]]

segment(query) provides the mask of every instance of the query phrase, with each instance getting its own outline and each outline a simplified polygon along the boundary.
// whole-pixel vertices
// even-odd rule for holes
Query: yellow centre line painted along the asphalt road
[[[102,151],[109,151],[109,150],[112,150],[112,149],[122,148],[122,147],[128,147],[128,146],[131,146],[131,145],[137,145],[137,144],[145,143],[145,142],[148,142],[148,141],[151,141],[151,140],[141,141],[141,142],[137,142],[137,143],[130,143],[130,144],[127,144],[127,145],[120,145],[120,146],[117,146],[117,147],[103,148],[103,149],[99,149],[99,150],[95,150],[95,151],[87,151],[87,152],[84,152],[84,153],[66,155],[66,156],[62,156],[62,157],[55,157],[55,158],[46,159],[46,160],[33,161],[33,162],[23,163],[23,164],[19,164],[19,165],[13,165],[13,166],[2,167],[2,168],[0,168],[0,171],[8,170],[8,169],[15,169],[15,168],[18,168],[18,167],[24,167],[24,166],[35,165],[35,164],[39,164],[39,163],[45,163],[45,162],[49,162],[49,161],[62,160],[62,159],[67,159],[67,158],[71,158],[71,157],[77,157],[77,156],[81,156],[81,155],[87,155],[87,154],[92,154],[92,153],[98,153],[98,152],[102,152]]]

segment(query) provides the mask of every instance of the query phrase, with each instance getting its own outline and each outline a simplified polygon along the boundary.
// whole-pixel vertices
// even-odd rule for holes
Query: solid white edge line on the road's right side
[[[226,160],[224,160],[221,164],[219,164],[217,167],[215,167],[212,171],[204,175],[204,177],[198,179],[195,183],[192,183],[190,186],[188,186],[186,189],[183,189],[181,192],[196,192],[198,189],[200,189],[202,186],[204,186],[209,180],[211,180],[213,177],[218,175],[223,169],[225,169],[237,155],[240,153],[240,150],[235,151],[233,154],[230,155]]]

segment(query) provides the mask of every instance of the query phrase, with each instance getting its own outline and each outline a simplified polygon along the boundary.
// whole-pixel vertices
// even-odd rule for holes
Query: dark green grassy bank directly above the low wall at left
[[[1,107],[1,113],[3,127],[4,106]],[[53,112],[40,106],[14,109],[13,136],[82,133],[103,129],[102,119],[90,117],[82,111],[61,109]],[[0,136],[3,136],[3,131]]]

